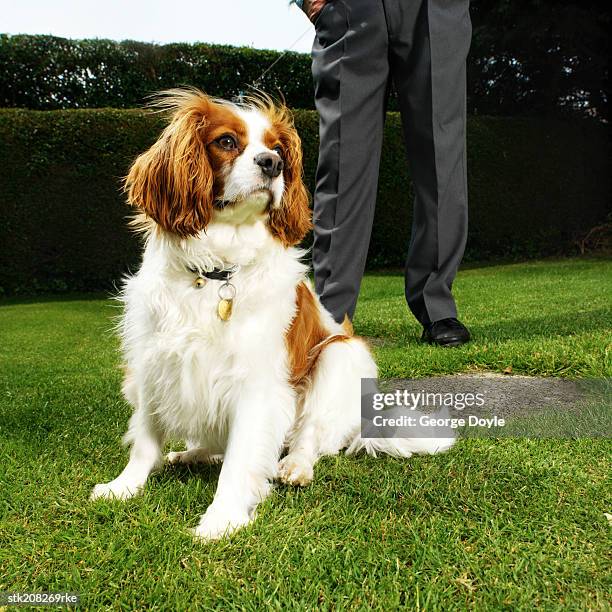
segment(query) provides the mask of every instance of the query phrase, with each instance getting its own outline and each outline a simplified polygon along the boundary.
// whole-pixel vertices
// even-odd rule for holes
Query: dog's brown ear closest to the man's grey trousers
[[[308,191],[302,177],[302,142],[287,108],[276,108],[271,114],[284,151],[285,191],[280,207],[270,211],[268,224],[285,246],[293,246],[312,228]]]

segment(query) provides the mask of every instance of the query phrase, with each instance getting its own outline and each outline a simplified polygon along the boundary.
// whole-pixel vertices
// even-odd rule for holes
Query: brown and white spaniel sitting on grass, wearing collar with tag
[[[193,530],[209,540],[253,520],[275,478],[310,483],[322,455],[446,450],[448,440],[360,438],[360,380],[376,364],[348,319],[321,305],[296,247],[311,212],[290,111],[196,89],[156,106],[169,122],[125,179],[145,242],[119,296],[130,458],[91,497],[139,493],[164,441],[185,440],[168,463],[222,461]]]

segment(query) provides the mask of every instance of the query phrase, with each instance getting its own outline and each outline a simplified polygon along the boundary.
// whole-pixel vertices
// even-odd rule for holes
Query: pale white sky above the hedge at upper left
[[[0,32],[208,42],[309,52],[314,30],[289,0],[0,0]]]

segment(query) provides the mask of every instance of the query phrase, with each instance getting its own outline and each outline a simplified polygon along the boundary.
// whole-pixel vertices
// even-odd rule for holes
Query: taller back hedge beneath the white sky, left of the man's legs
[[[0,34],[0,106],[134,108],[152,92],[180,84],[228,99],[257,84],[267,92],[282,91],[292,108],[313,108],[307,53],[284,54],[261,78],[280,56],[278,51],[206,43]]]

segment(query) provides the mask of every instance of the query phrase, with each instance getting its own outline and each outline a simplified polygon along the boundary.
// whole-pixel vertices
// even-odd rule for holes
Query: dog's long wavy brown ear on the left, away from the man
[[[204,94],[167,96],[170,124],[132,164],[125,178],[127,199],[162,229],[193,236],[208,224],[213,206],[213,171],[206,151],[208,100]]]

